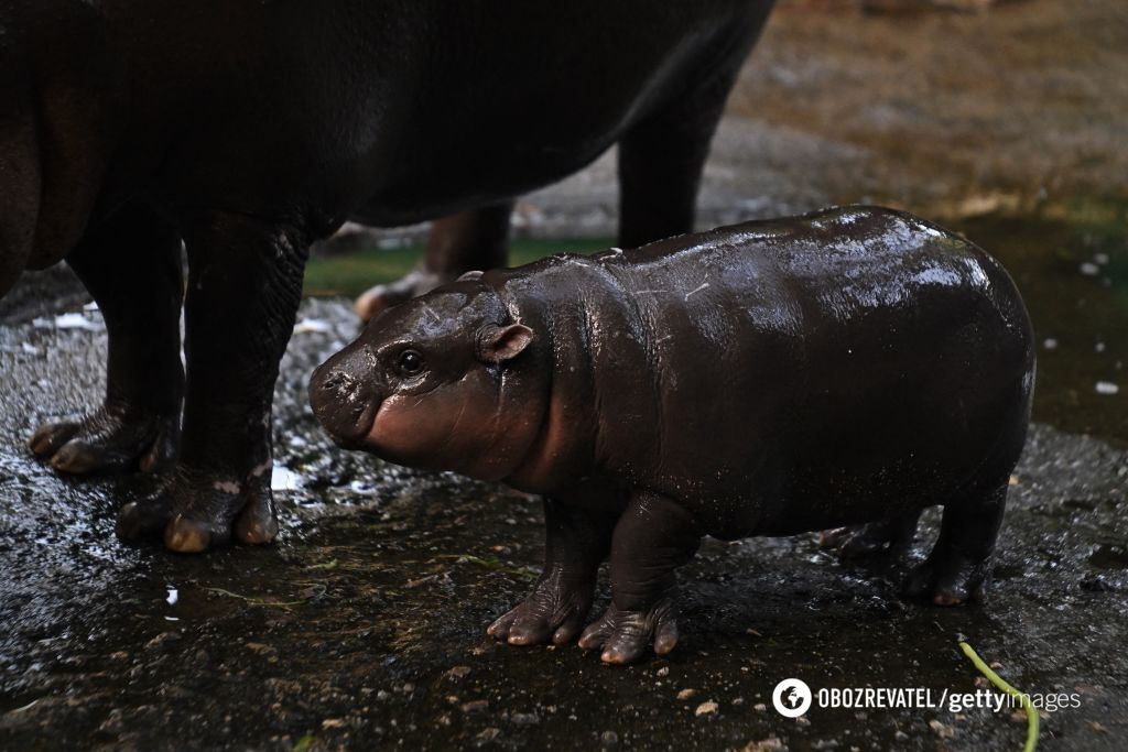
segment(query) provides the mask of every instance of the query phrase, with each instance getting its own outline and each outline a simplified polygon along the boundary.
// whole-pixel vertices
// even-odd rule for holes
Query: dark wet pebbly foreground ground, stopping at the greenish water
[[[536,575],[536,499],[343,453],[316,426],[306,378],[352,336],[345,301],[307,301],[283,363],[281,540],[197,557],[113,538],[148,479],[70,481],[28,457],[38,421],[96,402],[105,347],[96,311],[34,308],[0,328],[2,747],[1017,749],[1008,711],[772,708],[790,676],[976,691],[961,635],[1019,688],[1076,693],[1045,715],[1046,749],[1128,743],[1128,455],[1101,440],[1034,427],[984,604],[899,596],[935,515],[908,561],[711,541],[681,577],[676,653],[610,669],[484,635]]]

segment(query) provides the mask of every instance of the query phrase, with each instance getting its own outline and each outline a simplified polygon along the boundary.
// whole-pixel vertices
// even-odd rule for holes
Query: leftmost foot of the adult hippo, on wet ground
[[[44,423],[28,440],[60,472],[91,475],[167,468],[176,454],[179,416],[100,407],[76,421]]]

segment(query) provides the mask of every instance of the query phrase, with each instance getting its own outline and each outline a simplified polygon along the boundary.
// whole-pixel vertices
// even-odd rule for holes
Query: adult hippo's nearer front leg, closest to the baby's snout
[[[270,541],[271,401],[301,299],[303,233],[252,216],[187,223],[187,382],[180,452],[161,493],[124,506],[117,534],[164,531],[165,546],[201,551],[235,537]]]

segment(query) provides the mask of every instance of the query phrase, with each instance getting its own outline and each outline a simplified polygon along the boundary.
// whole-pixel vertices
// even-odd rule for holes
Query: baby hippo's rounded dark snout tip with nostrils
[[[368,348],[346,347],[317,366],[309,380],[309,404],[334,441],[359,448],[380,406]]]

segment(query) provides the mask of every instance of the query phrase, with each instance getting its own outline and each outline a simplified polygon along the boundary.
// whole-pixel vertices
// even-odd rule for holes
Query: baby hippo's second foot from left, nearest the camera
[[[613,603],[599,621],[583,630],[580,647],[601,649],[603,663],[634,663],[646,653],[651,639],[654,652],[666,655],[678,644],[678,609],[671,598],[660,599],[646,611],[620,611]]]

